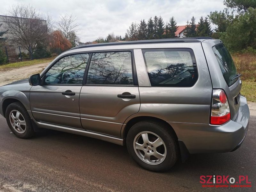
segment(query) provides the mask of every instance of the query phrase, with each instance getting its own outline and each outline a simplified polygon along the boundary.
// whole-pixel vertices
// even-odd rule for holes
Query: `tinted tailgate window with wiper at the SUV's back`
[[[212,49],[220,65],[220,69],[225,81],[227,82],[228,86],[232,85],[237,80],[237,78],[232,80],[232,78],[236,76],[237,71],[230,53],[223,44],[218,44]]]

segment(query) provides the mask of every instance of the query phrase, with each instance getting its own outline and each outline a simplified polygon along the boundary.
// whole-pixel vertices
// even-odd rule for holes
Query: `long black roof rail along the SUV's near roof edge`
[[[87,44],[73,47],[69,50],[80,49],[85,47],[98,47],[108,45],[125,45],[125,44],[150,44],[150,43],[192,43],[201,42],[199,39],[212,39],[212,37],[188,37],[188,38],[169,38],[169,39],[151,39],[151,40],[139,40],[139,41],[123,41],[123,42],[111,42],[111,43],[98,43]]]

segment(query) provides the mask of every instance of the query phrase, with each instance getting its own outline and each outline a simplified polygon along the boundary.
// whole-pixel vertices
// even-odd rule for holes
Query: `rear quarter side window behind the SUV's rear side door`
[[[191,87],[198,78],[191,49],[142,50],[151,86]]]

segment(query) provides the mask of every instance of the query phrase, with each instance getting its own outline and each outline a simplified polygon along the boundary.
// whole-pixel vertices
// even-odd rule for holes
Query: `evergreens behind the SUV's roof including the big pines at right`
[[[210,12],[207,17],[201,16],[198,23],[193,16],[186,23],[185,37],[212,37],[220,39],[231,52],[253,52],[256,54],[256,1],[224,0],[227,6],[223,11]],[[211,29],[211,24],[216,28]],[[150,17],[140,23],[132,22],[125,36],[99,37],[88,43],[107,43],[117,40],[134,41],[146,39],[175,38],[177,22],[174,17],[164,23],[161,16]]]

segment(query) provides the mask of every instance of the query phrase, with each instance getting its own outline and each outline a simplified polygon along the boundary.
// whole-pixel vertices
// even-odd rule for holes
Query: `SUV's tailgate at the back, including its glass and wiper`
[[[223,89],[226,92],[231,119],[234,120],[240,107],[242,81],[240,77],[237,77],[236,66],[230,53],[223,43],[220,41],[218,43],[218,41],[202,42],[202,45],[211,73],[212,86],[216,89]]]

